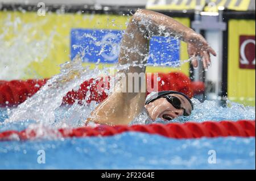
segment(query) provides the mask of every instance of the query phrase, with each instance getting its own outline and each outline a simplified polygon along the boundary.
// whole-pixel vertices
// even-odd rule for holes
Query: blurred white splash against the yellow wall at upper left
[[[19,79],[26,75],[25,69],[31,62],[42,62],[52,48],[51,42],[56,32],[49,35],[36,28],[46,24],[46,20],[34,23],[24,23],[17,16],[12,20],[9,14],[3,19],[0,30],[0,79]],[[36,29],[36,31],[35,31]],[[10,38],[13,33],[14,37]],[[40,36],[38,36],[40,35]],[[19,70],[19,71],[17,71]]]

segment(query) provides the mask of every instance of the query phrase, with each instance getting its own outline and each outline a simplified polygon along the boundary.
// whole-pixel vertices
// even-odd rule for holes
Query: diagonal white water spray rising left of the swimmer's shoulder
[[[65,94],[99,73],[97,69],[83,68],[81,62],[79,55],[73,61],[62,64],[60,73],[49,79],[34,96],[19,104],[5,122],[32,119],[53,124],[54,111],[61,105]]]

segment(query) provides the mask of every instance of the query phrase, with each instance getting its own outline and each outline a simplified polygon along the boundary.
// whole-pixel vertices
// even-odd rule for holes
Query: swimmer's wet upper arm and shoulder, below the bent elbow
[[[135,16],[130,19],[126,31],[122,36],[118,64],[145,64],[148,54],[148,39],[139,30]],[[118,73],[145,73],[145,67],[129,66],[127,70]],[[126,77],[127,78],[127,77]],[[131,84],[133,85],[134,82]],[[127,82],[127,85],[129,83]],[[122,89],[121,83],[115,83],[115,90]],[[129,124],[141,112],[145,102],[146,92],[113,92],[91,113],[87,121],[100,124]]]

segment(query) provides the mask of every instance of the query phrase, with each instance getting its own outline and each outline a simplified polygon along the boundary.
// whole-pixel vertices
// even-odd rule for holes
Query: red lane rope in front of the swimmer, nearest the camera
[[[255,120],[238,121],[204,121],[202,123],[169,123],[148,125],[100,125],[98,127],[80,127],[73,129],[35,129],[23,131],[5,131],[0,133],[0,141],[33,140],[36,138],[53,137],[90,137],[114,136],[123,132],[143,132],[158,134],[168,138],[201,138],[201,137],[255,137]]]

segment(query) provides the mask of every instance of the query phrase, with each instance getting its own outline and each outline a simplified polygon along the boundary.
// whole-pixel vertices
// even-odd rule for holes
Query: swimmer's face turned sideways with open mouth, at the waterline
[[[185,109],[188,115],[191,115],[192,107],[184,96],[179,94],[169,94],[175,96],[180,100],[181,106]],[[156,120],[158,117],[163,120],[172,120],[177,116],[184,115],[184,109],[177,109],[168,102],[166,98],[159,98],[145,105],[148,114],[152,120]]]

